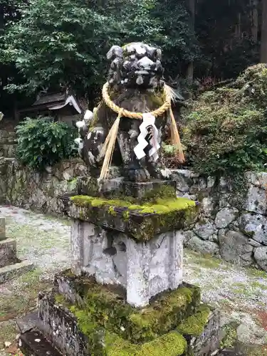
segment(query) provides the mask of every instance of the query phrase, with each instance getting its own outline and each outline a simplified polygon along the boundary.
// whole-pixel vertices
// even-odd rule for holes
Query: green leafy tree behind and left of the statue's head
[[[132,41],[162,46],[169,72],[177,73],[176,53],[178,59],[192,56],[193,34],[183,4],[172,1],[176,12],[170,18],[164,3],[31,0],[22,4],[21,20],[11,23],[5,37],[5,55],[16,63],[26,83],[6,88],[34,93],[42,87],[57,90],[59,85],[70,85],[80,95],[93,93],[105,80],[110,47]]]

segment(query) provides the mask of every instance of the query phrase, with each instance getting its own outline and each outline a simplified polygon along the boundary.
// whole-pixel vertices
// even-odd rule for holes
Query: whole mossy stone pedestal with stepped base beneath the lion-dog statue
[[[73,267],[40,294],[38,315],[18,320],[26,356],[214,355],[219,313],[182,281],[181,230],[196,204],[162,187],[143,186],[138,199],[61,199]]]

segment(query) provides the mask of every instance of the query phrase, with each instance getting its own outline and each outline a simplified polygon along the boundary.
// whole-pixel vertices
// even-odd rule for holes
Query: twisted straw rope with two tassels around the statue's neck
[[[142,120],[142,118],[143,118],[142,112],[128,111],[126,109],[120,108],[115,103],[113,103],[112,100],[110,99],[108,89],[109,89],[109,83],[105,83],[105,85],[103,85],[103,90],[102,90],[103,99],[105,101],[105,104],[108,105],[108,107],[111,110],[117,112],[118,116],[117,116],[117,119],[115,120],[114,124],[112,125],[110,132],[105,140],[105,144],[103,145],[103,149],[101,150],[101,155],[105,155],[105,158],[104,158],[103,166],[102,166],[102,169],[100,172],[100,177],[99,177],[100,180],[108,179],[108,174],[110,171],[110,164],[111,164],[112,155],[113,155],[115,142],[116,142],[116,138],[117,138],[117,131],[118,131],[119,125],[120,125],[120,118],[121,117],[130,117],[131,119],[138,119],[138,120]],[[179,161],[184,162],[184,153],[182,150],[182,144],[180,141],[177,124],[176,124],[176,121],[174,119],[174,115],[172,112],[172,98],[173,98],[172,90],[166,84],[164,85],[163,90],[164,90],[164,96],[165,96],[164,104],[157,110],[150,112],[150,114],[155,117],[162,116],[164,114],[164,112],[169,110],[169,115],[171,117],[171,127],[170,128],[171,128],[172,144],[174,145],[174,147],[177,147]]]

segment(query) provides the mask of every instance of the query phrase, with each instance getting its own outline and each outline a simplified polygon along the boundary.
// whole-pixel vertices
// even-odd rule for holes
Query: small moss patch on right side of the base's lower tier
[[[178,327],[177,331],[183,335],[199,336],[204,332],[206,323],[209,320],[210,309],[207,305],[201,305],[194,315],[189,316]]]

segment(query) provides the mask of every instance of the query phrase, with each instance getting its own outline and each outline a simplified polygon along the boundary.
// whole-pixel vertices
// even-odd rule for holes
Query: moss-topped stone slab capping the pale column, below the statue
[[[66,214],[71,218],[125,232],[139,241],[148,241],[162,232],[184,229],[197,215],[195,201],[185,198],[155,199],[143,205],[132,199],[89,196],[73,196],[63,201]]]

